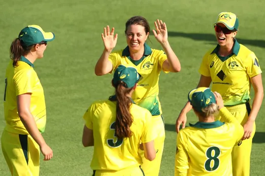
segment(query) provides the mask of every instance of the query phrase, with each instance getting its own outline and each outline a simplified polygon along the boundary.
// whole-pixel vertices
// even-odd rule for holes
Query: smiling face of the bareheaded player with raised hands
[[[144,48],[144,43],[149,35],[145,27],[138,24],[129,25],[126,31],[126,41],[129,49],[137,52]]]

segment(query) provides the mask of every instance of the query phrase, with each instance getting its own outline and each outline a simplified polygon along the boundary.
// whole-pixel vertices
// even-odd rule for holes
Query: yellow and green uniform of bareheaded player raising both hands
[[[144,161],[142,168],[145,175],[156,176],[159,174],[165,138],[163,117],[161,115],[162,109],[158,98],[158,80],[163,62],[167,60],[167,55],[161,50],[151,49],[146,43],[144,45],[144,55],[140,60],[134,61],[129,55],[129,48],[127,46],[123,50],[111,53],[109,60],[113,65],[112,72],[119,65],[126,65],[135,67],[140,74],[138,86],[131,98],[137,105],[148,109],[153,116],[153,123],[156,128],[155,135],[157,136],[155,139],[155,149],[157,153],[156,158],[153,161],[149,161],[144,157],[143,151],[139,152]]]

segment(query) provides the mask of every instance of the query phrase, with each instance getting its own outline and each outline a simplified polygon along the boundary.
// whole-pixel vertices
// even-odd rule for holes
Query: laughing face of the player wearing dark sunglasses
[[[227,29],[223,23],[217,23],[215,26],[215,35],[218,44],[221,47],[225,47],[234,42],[233,39],[237,35],[237,31]]]

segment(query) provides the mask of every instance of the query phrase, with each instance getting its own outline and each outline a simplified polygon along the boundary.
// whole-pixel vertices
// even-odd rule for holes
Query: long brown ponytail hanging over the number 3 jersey
[[[118,138],[128,138],[132,136],[130,126],[132,124],[132,117],[130,114],[131,99],[127,97],[130,91],[133,89],[126,88],[126,83],[118,81],[115,87],[116,95],[116,136]]]

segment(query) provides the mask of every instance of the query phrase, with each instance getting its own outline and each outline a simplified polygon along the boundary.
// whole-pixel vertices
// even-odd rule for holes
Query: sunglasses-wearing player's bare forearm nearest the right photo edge
[[[253,103],[252,103],[252,109],[248,117],[249,121],[255,121],[258,111],[262,104],[263,96],[264,96],[263,89],[258,89],[255,92],[255,96],[254,96]]]

